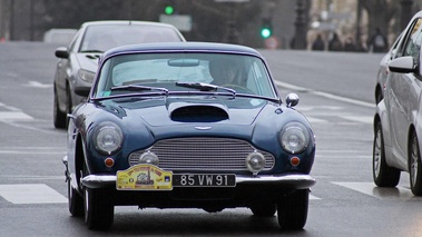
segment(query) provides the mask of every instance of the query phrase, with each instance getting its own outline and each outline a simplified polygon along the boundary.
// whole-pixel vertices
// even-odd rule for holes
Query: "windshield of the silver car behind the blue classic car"
[[[176,30],[161,26],[108,24],[90,26],[84,34],[79,52],[104,52],[108,49],[140,42],[179,42]]]

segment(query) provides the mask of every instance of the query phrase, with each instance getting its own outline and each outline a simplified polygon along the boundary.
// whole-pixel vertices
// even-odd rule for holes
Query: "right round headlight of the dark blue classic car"
[[[310,131],[301,122],[288,122],[279,134],[279,142],[289,154],[302,152],[310,142]]]

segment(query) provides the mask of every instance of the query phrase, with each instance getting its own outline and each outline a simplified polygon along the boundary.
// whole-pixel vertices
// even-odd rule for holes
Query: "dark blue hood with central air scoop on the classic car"
[[[137,102],[115,100],[108,108],[153,127],[190,122],[251,125],[268,101],[251,98],[166,98]]]

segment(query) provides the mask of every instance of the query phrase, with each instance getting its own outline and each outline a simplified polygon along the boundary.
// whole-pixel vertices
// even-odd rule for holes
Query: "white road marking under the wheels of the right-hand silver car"
[[[409,200],[413,198],[420,198],[412,194],[409,188],[395,187],[395,188],[381,188],[376,187],[373,182],[332,182],[379,199],[402,199]]]

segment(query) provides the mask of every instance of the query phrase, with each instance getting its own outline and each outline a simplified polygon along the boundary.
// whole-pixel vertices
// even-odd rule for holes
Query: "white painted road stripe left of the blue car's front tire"
[[[0,185],[0,196],[12,204],[65,204],[67,198],[45,184]]]

